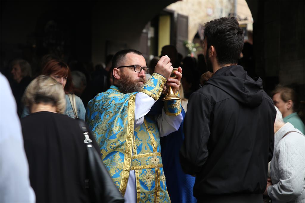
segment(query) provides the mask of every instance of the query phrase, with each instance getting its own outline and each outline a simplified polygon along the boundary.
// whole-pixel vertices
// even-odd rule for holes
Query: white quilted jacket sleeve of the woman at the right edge
[[[294,137],[293,137],[294,136]],[[301,137],[302,136],[302,137]],[[291,202],[303,193],[305,176],[305,138],[290,133],[284,138],[278,155],[279,182],[267,189],[268,196],[281,202]]]

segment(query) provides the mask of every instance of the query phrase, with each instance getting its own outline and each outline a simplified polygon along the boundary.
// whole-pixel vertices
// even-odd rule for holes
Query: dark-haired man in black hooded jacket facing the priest
[[[235,18],[206,23],[204,57],[214,75],[190,96],[180,150],[198,202],[263,202],[276,110],[262,80],[237,65],[243,43]]]

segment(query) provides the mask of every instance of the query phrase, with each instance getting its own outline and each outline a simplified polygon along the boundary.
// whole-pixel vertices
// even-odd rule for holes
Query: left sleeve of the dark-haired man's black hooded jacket
[[[209,155],[211,104],[205,95],[192,93],[184,120],[185,140],[180,150],[182,170],[194,175],[200,171]]]

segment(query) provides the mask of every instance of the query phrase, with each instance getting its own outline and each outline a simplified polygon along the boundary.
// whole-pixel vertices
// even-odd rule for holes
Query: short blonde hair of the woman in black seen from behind
[[[58,113],[63,114],[66,110],[65,91],[55,79],[47,75],[39,75],[27,86],[23,103],[29,109],[33,104],[52,104]]]

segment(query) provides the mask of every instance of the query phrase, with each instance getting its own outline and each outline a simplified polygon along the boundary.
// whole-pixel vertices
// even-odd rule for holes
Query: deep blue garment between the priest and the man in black
[[[183,120],[185,111],[182,108]],[[179,150],[184,140],[183,121],[178,131],[160,137],[161,157],[166,177],[167,191],[171,202],[197,202],[193,196],[195,177],[182,171],[179,161]]]

